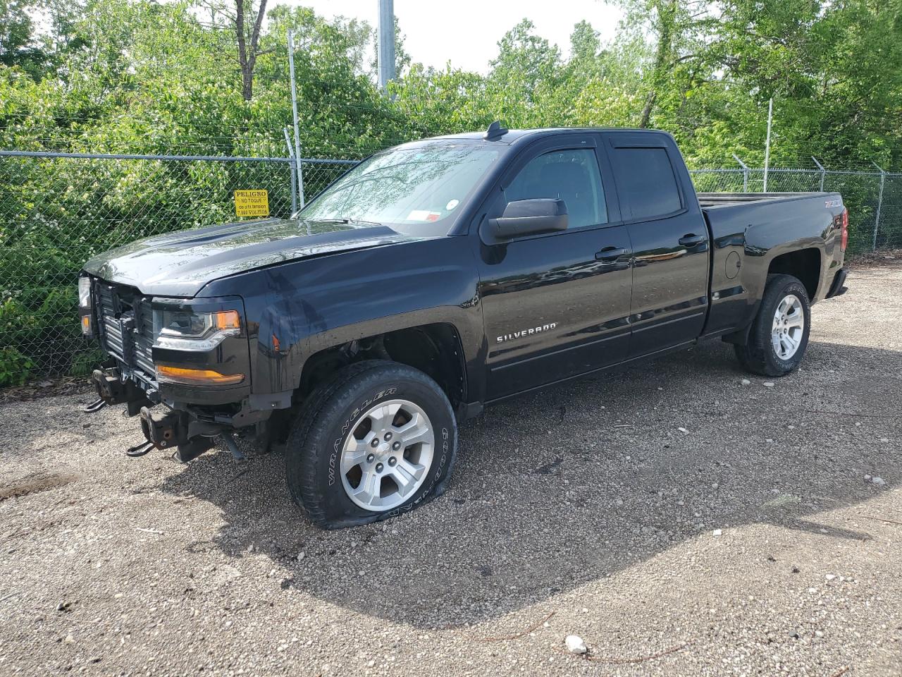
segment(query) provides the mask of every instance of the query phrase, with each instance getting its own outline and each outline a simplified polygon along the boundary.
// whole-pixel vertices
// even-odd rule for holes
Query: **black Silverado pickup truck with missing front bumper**
[[[843,291],[837,193],[696,195],[673,138],[508,131],[375,153],[291,218],[154,236],[79,279],[104,403],[188,461],[284,445],[335,528],[439,495],[483,405],[692,346],[750,372],[805,354]]]

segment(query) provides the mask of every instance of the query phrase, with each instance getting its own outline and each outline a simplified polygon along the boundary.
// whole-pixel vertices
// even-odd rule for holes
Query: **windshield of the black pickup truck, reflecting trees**
[[[444,234],[498,158],[483,144],[428,144],[377,153],[301,209],[299,218],[368,221],[402,232]]]

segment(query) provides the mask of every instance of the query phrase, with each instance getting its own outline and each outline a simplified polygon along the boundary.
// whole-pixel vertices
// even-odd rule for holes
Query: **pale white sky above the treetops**
[[[276,0],[277,4],[285,0]],[[312,7],[322,16],[343,15],[377,24],[379,0],[289,0]],[[566,56],[574,24],[585,19],[612,39],[620,21],[617,7],[603,0],[394,0],[394,12],[404,47],[414,61],[441,69],[450,60],[455,68],[486,73],[498,53],[498,41],[523,18],[536,32],[556,43]]]

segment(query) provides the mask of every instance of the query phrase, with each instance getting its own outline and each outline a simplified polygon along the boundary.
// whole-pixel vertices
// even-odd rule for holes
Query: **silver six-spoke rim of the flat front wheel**
[[[409,400],[378,403],[354,422],[342,446],[345,493],[365,510],[396,508],[426,481],[434,449],[422,408]]]

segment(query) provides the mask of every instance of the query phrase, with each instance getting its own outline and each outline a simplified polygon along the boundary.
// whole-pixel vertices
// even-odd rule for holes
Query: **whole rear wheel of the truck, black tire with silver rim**
[[[735,346],[740,364],[761,376],[786,376],[802,363],[811,330],[805,285],[792,275],[768,275],[749,340]]]

